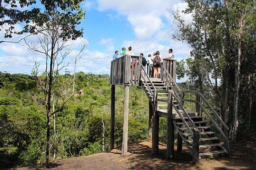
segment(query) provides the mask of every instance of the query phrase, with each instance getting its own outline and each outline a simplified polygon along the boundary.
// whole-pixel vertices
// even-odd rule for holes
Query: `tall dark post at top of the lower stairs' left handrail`
[[[168,109],[167,109],[167,149],[166,159],[174,156],[174,124],[172,121],[172,92],[168,90]]]

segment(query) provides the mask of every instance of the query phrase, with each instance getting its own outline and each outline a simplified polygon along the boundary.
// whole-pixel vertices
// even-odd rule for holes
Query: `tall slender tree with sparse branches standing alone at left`
[[[80,20],[84,18],[85,13],[80,7],[80,0],[64,0],[64,1],[44,1],[44,17],[48,21],[42,25],[42,32],[38,35],[37,42],[29,42],[26,40],[27,47],[35,53],[42,54],[46,59],[46,67],[44,73],[39,76],[40,63],[35,61],[33,68],[33,75],[35,76],[39,87],[44,92],[44,101],[47,113],[47,138],[46,138],[46,165],[49,163],[49,138],[50,138],[50,122],[51,116],[64,109],[64,104],[72,97],[73,93],[66,99],[62,100],[62,104],[58,109],[52,112],[52,90],[57,82],[60,70],[66,67],[66,57],[71,53],[68,48],[68,40],[76,40],[82,37],[82,29],[77,28]],[[50,3],[50,4],[49,4]],[[81,51],[77,54],[79,56],[85,44],[82,45]],[[76,59],[75,59],[76,63]],[[75,75],[74,75],[75,77]],[[55,107],[57,108],[56,104]]]

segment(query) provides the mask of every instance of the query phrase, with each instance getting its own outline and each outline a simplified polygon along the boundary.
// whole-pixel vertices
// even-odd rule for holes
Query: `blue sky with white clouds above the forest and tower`
[[[135,55],[142,52],[147,56],[159,50],[166,57],[168,49],[172,48],[178,61],[189,56],[189,46],[172,39],[175,25],[166,10],[184,10],[186,3],[183,1],[86,0],[82,7],[86,11],[85,20],[81,23],[84,34],[82,39],[73,43],[74,53],[82,41],[88,42],[88,47],[77,63],[77,72],[109,74],[114,52],[121,51],[123,46],[127,49],[132,46]],[[191,16],[184,16],[184,19],[190,21]],[[12,40],[21,37],[15,35]],[[0,39],[4,39],[2,33]],[[35,40],[36,37],[30,39]],[[39,71],[44,70],[44,57],[20,44],[1,43],[0,60],[2,72],[30,74],[34,60],[41,61],[42,68]],[[70,64],[67,69],[73,72],[73,65]]]

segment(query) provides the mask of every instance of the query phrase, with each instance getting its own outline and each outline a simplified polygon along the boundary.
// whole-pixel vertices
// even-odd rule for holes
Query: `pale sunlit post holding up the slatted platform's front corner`
[[[127,154],[128,112],[129,112],[129,86],[125,85],[122,154]]]

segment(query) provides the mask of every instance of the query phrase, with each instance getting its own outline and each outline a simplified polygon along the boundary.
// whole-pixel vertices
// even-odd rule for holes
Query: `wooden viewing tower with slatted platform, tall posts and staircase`
[[[199,91],[182,91],[177,86],[176,60],[163,60],[159,79],[149,78],[141,61],[140,56],[123,56],[111,61],[110,150],[114,148],[115,141],[115,85],[124,85],[122,154],[127,154],[129,86],[142,86],[149,100],[148,141],[152,141],[152,154],[158,154],[159,117],[165,117],[167,118],[166,159],[171,159],[174,155],[174,128],[177,129],[177,152],[182,151],[184,143],[194,163],[209,158],[229,156],[229,128]],[[194,93],[196,98],[185,99],[185,93]],[[184,102],[195,103],[195,111],[184,109]],[[208,106],[210,112],[203,105]],[[205,118],[211,122],[203,121]],[[220,138],[215,137],[215,131],[219,132]]]

